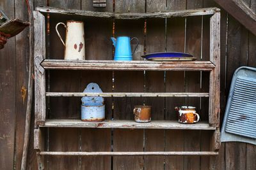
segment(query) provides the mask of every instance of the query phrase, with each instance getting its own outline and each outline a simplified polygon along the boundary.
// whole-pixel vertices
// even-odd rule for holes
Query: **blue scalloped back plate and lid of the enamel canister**
[[[102,93],[97,83],[89,83],[83,91],[84,93]],[[104,105],[103,97],[82,97],[83,106],[102,106]]]

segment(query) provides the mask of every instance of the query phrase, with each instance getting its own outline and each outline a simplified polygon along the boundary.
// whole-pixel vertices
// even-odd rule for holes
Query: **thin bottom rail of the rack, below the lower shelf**
[[[40,155],[61,156],[142,156],[142,155],[218,155],[218,152],[40,152]]]

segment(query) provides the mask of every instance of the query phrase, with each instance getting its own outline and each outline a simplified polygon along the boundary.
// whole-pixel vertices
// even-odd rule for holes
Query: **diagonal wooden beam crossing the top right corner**
[[[243,0],[214,0],[249,31],[256,35],[256,14]]]

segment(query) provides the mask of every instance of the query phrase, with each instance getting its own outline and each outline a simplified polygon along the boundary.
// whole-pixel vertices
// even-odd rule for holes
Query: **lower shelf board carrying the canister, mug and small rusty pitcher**
[[[173,109],[174,110],[174,109]],[[81,120],[48,119],[41,127],[86,127],[118,129],[197,129],[215,130],[207,122],[196,124],[179,124],[178,120],[152,120],[149,123],[137,123],[134,120],[104,120],[103,122],[83,122]]]

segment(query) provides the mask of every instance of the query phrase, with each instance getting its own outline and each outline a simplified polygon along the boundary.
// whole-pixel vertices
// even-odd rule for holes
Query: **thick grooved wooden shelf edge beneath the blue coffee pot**
[[[115,61],[115,60],[50,60],[41,63],[44,69],[87,70],[152,70],[152,71],[211,71],[215,66],[210,61]]]

